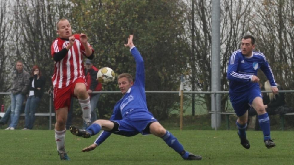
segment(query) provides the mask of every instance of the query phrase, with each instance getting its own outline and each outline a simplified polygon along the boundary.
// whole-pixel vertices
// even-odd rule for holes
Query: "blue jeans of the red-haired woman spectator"
[[[24,127],[28,129],[33,129],[35,122],[35,113],[41,99],[35,96],[29,96],[27,98],[27,103],[25,104],[24,113]]]

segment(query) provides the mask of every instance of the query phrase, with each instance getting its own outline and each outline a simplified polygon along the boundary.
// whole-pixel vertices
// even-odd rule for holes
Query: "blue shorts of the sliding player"
[[[142,135],[149,134],[146,127],[151,122],[157,122],[152,113],[147,110],[134,110],[128,113],[122,120],[112,120],[119,124],[118,132],[115,134],[124,136],[133,136],[138,133]]]

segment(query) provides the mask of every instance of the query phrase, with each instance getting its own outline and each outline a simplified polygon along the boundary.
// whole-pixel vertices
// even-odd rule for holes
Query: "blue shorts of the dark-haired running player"
[[[259,88],[253,88],[245,93],[231,93],[230,100],[237,116],[242,116],[250,108],[253,100],[256,97],[261,97],[261,91]]]

